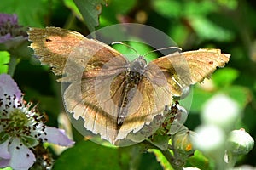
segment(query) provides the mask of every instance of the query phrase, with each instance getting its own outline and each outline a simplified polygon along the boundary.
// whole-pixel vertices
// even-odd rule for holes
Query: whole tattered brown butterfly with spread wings
[[[166,105],[172,105],[173,97],[209,78],[230,59],[219,49],[199,49],[149,63],[143,56],[129,61],[107,44],[76,31],[30,28],[28,35],[41,63],[62,76],[59,82],[69,83],[63,94],[67,111],[112,144],[148,126]]]

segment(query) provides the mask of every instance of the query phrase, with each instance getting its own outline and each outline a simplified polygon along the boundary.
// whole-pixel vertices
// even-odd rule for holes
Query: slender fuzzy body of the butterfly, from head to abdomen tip
[[[119,101],[119,111],[118,111],[118,126],[121,126],[125,121],[125,116],[129,111],[131,105],[131,100],[134,98],[137,92],[137,86],[143,78],[143,73],[147,62],[142,56],[131,61],[129,67],[125,71],[125,88],[123,88],[121,94],[121,100]]]

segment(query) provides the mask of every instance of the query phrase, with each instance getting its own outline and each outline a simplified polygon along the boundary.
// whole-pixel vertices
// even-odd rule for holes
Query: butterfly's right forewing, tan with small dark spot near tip
[[[219,49],[175,53],[154,59],[148,64],[146,74],[155,77],[154,81],[159,82],[157,77],[161,71],[168,81],[172,95],[180,96],[183,88],[211,77],[217,67],[224,67],[229,59],[230,54],[221,54]],[[159,69],[153,69],[156,65]]]

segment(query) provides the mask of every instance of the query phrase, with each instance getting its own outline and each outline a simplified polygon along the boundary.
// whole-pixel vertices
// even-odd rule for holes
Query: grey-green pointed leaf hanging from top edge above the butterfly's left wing
[[[102,4],[106,4],[105,0],[73,0],[79,8],[80,13],[84,17],[84,22],[90,32],[95,31],[95,27],[99,26],[99,14],[102,13]]]

